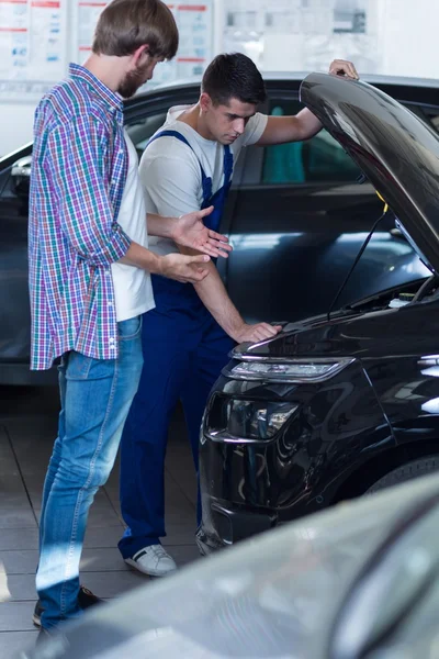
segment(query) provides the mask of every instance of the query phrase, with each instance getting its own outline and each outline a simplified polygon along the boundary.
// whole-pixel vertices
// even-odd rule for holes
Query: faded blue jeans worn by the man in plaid
[[[142,319],[117,327],[117,359],[70,351],[59,367],[61,410],[44,483],[36,573],[47,629],[79,613],[79,561],[89,509],[114,465],[140,378]]]

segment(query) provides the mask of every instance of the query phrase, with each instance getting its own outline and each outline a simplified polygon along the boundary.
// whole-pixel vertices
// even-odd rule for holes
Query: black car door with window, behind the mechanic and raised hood
[[[295,114],[297,93],[271,93],[268,113]],[[303,143],[248,147],[235,202],[229,294],[247,321],[292,321],[328,310],[383,211],[368,182],[326,132]],[[394,231],[378,226],[337,305],[424,277]]]

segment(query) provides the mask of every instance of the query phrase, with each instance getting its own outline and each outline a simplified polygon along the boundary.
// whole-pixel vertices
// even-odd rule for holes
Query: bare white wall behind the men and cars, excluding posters
[[[224,48],[223,8],[230,7],[230,1],[215,0],[216,52]],[[307,7],[323,18],[333,11],[335,1],[308,0]],[[296,0],[291,2],[297,5]],[[365,36],[262,35],[263,53],[258,58],[264,70],[326,69],[337,56],[358,63],[360,72],[439,78],[438,25],[439,0],[369,0]],[[0,104],[0,156],[32,139],[34,107],[35,102],[24,101]]]

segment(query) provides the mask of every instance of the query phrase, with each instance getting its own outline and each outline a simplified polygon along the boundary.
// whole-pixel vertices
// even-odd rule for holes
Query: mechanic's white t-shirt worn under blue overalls
[[[148,213],[179,217],[196,211],[203,203],[200,164],[206,177],[212,179],[212,194],[224,185],[224,146],[205,139],[178,118],[191,105],[176,105],[168,112],[165,124],[157,131],[178,131],[188,139],[190,148],[177,137],[164,136],[153,142],[140,160],[139,177],[145,189]],[[256,144],[267,126],[267,115],[252,116],[240,137],[230,145],[234,165],[244,146]],[[178,252],[168,238],[149,237],[149,249],[165,255]]]

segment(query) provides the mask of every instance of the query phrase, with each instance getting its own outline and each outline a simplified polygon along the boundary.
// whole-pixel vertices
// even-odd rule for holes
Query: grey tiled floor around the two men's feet
[[[37,523],[44,476],[57,425],[57,391],[0,388],[0,659],[33,641]],[[123,530],[119,469],[93,503],[82,554],[82,582],[101,597],[145,583],[116,548]],[[170,432],[166,471],[164,544],[182,566],[198,558],[194,544],[195,480],[181,415]]]

